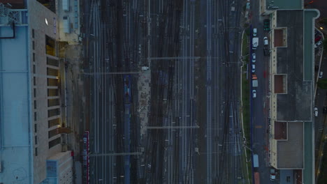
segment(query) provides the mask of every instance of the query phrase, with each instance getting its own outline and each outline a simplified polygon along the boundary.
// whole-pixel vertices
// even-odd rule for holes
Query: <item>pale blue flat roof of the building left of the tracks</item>
[[[0,181],[32,183],[30,78],[27,26],[15,27],[15,41],[0,39]],[[9,26],[0,26],[0,35],[12,35]],[[19,53],[17,51],[20,51]],[[17,178],[16,178],[17,177]]]

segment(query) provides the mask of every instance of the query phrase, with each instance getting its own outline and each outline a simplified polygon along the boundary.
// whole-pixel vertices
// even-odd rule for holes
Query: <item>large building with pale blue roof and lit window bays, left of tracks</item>
[[[58,2],[8,2],[0,1],[0,183],[72,183],[57,46],[70,37],[59,33]]]

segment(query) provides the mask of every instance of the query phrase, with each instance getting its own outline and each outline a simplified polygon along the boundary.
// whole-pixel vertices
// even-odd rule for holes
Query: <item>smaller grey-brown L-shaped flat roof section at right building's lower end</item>
[[[303,169],[303,122],[287,123],[287,139],[277,141],[277,167]]]

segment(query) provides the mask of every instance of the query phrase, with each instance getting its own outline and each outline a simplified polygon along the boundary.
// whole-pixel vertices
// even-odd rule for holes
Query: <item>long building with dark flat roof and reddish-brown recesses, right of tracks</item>
[[[261,0],[270,16],[270,164],[280,183],[314,183],[314,20],[302,1]]]

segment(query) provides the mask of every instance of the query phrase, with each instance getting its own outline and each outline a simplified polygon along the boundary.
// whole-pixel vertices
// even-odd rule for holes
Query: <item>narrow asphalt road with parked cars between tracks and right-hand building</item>
[[[252,29],[258,30],[259,47],[250,52],[256,53],[256,75],[258,76],[259,86],[256,88],[256,99],[251,102],[252,114],[252,150],[254,154],[259,155],[259,171],[261,183],[274,183],[270,181],[270,163],[269,163],[269,138],[268,138],[268,56],[263,55],[263,37],[268,36],[268,31],[263,30],[263,20],[268,17],[259,15],[259,1],[251,2],[251,25]],[[251,31],[252,33],[252,31]],[[251,36],[252,39],[252,36]],[[270,38],[268,37],[270,42]],[[251,47],[251,46],[250,46]],[[252,94],[252,90],[250,91]]]

